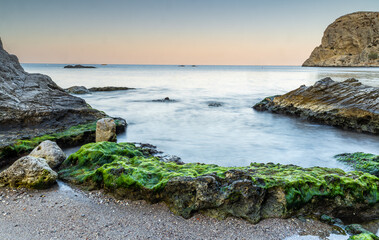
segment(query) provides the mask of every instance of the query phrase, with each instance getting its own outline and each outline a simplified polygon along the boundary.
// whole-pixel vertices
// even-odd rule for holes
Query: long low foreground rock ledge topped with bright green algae
[[[341,169],[272,163],[178,165],[145,155],[134,144],[100,142],[69,156],[59,174],[118,198],[164,201],[186,218],[198,211],[251,222],[299,214],[367,220],[379,216],[379,178]]]

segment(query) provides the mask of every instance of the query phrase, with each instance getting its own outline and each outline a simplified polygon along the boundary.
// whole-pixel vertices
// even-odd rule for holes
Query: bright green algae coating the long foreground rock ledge
[[[141,149],[130,143],[84,145],[63,163],[61,169],[60,176],[75,183],[110,191],[130,188],[153,192],[162,192],[167,182],[177,177],[213,175],[224,179],[229,172],[239,170],[257,187],[282,189],[287,209],[298,209],[313,200],[337,197],[351,206],[379,202],[379,178],[368,173],[273,163],[251,163],[247,167],[198,163],[177,165],[144,155]]]

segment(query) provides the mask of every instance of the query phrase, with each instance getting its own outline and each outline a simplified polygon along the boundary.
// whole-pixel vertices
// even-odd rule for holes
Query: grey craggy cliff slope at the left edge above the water
[[[0,40],[0,146],[94,121],[104,114],[66,93],[50,77],[29,74]]]

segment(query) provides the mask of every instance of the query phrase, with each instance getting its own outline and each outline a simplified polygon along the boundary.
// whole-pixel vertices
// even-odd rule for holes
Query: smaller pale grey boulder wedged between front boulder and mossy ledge
[[[66,160],[66,154],[62,149],[50,140],[40,143],[30,154],[31,157],[43,158],[51,168],[57,168]]]

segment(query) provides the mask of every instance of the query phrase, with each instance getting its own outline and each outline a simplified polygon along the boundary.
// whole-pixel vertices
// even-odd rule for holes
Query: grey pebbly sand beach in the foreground
[[[217,220],[173,215],[163,203],[115,200],[60,182],[50,190],[0,190],[1,239],[284,239],[325,238],[331,227],[310,219]]]

